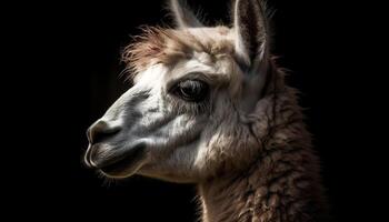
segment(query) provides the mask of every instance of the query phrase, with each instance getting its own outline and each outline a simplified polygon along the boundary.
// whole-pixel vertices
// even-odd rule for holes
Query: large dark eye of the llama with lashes
[[[206,99],[209,91],[207,83],[199,80],[184,80],[173,89],[173,93],[190,102],[200,102]]]

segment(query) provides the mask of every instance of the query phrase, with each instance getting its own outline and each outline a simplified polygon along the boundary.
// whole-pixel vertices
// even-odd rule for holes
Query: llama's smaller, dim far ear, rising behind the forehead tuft
[[[184,0],[170,0],[170,10],[173,13],[176,24],[180,29],[203,27],[196,18],[194,13],[188,8]]]

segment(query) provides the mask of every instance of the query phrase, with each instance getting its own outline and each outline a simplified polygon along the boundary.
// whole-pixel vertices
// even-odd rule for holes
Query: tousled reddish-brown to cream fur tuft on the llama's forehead
[[[132,78],[153,64],[174,64],[190,59],[196,52],[205,52],[215,59],[233,54],[232,32],[227,27],[174,30],[169,28],[143,28],[122,54]]]

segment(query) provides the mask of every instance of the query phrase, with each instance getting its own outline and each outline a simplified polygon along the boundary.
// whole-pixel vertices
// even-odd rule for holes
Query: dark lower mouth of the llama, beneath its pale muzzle
[[[127,178],[137,172],[146,157],[146,145],[139,144],[131,148],[122,157],[110,160],[108,164],[99,168],[103,174],[110,178]]]

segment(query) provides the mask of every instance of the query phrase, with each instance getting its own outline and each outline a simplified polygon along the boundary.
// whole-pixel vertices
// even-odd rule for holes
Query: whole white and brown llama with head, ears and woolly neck
[[[323,220],[318,158],[263,3],[236,0],[231,27],[170,7],[176,29],[146,28],[126,48],[134,84],[88,129],[87,165],[196,183],[205,222]]]

